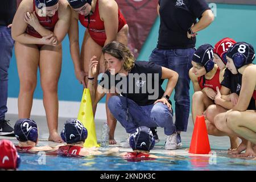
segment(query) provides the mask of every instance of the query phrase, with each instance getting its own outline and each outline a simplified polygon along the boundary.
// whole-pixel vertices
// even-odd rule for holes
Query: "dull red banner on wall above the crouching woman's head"
[[[158,13],[158,0],[115,0],[129,26],[128,47],[137,57]]]

